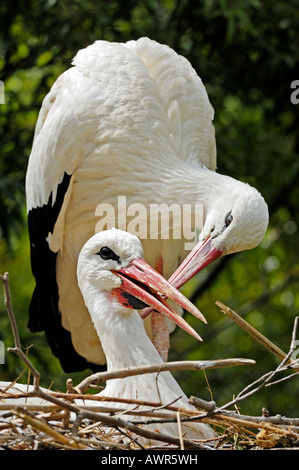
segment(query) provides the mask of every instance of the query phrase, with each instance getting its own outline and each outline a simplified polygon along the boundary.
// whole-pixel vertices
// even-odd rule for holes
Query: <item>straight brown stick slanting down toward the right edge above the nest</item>
[[[263,336],[253,326],[251,326],[249,323],[247,323],[242,317],[240,317],[231,308],[227,307],[226,305],[224,305],[219,300],[217,300],[216,305],[217,305],[217,307],[220,308],[220,310],[222,310],[222,312],[225,315],[227,315],[232,320],[234,320],[234,322],[237,323],[237,325],[241,326],[253,338],[255,338],[257,341],[259,341],[263,346],[265,346],[267,349],[269,349],[273,354],[278,356],[279,359],[281,359],[281,360],[285,359],[286,354],[281,349],[279,349],[275,344],[273,344],[271,341],[269,341],[265,336]],[[288,359],[287,364],[292,366],[293,361],[291,359]],[[298,366],[293,365],[292,367],[294,369],[298,369]]]

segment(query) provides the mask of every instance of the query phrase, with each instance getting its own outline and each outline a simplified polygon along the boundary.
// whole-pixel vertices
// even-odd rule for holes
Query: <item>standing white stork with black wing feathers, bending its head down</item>
[[[45,97],[26,175],[36,279],[29,327],[45,331],[65,371],[105,364],[76,278],[99,204],[112,205],[116,215],[119,195],[127,205],[146,208],[203,205],[199,242],[192,261],[173,278],[176,286],[213,259],[261,241],[267,205],[256,189],[215,171],[212,119],[190,63],[148,38],[96,41],[80,50]],[[129,230],[117,218],[115,225]],[[169,278],[188,253],[185,242],[171,234],[148,236],[142,240],[145,260]],[[151,317],[157,318],[149,316],[145,326],[156,341],[159,326],[151,326]]]

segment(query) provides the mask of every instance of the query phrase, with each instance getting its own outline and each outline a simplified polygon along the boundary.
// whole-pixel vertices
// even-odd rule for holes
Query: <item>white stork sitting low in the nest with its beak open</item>
[[[200,339],[167,300],[172,299],[177,305],[199,318],[201,318],[200,312],[180,291],[144,261],[141,242],[135,235],[118,229],[95,234],[80,252],[77,276],[84,302],[107,359],[108,371],[163,363],[146,334],[144,323],[136,309],[152,306],[159,315],[165,315]],[[1,389],[8,389],[9,393],[17,397],[19,393],[32,391],[33,387],[22,384],[10,387],[7,382],[0,382]],[[175,406],[195,411],[170,372],[108,380],[106,388],[99,395],[156,402],[161,405],[173,404],[175,401]],[[45,399],[38,397],[11,397],[4,401],[7,404],[45,403]],[[88,398],[83,403],[78,399],[76,403],[83,407],[89,404],[97,406],[96,403],[99,406],[106,404],[110,408],[128,406],[118,402],[90,402]],[[134,419],[134,416],[126,413],[124,418]],[[179,434],[176,423],[162,425],[154,423],[150,427],[174,436]],[[182,423],[182,433],[185,437],[197,439],[215,437],[212,429],[203,423]]]

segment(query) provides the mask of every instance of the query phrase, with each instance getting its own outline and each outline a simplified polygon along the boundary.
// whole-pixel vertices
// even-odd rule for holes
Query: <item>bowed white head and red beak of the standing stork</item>
[[[177,289],[220,256],[255,248],[265,235],[264,198],[248,184],[225,178],[225,191],[207,206],[198,243],[169,279]]]

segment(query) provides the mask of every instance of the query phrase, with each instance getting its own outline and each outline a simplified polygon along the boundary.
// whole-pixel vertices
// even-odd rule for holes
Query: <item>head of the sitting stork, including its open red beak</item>
[[[127,314],[128,309],[153,307],[201,339],[166,299],[172,299],[205,322],[203,315],[144,261],[141,242],[135,235],[118,229],[94,235],[80,252],[77,277],[87,307],[97,293],[104,293],[105,301],[111,303],[111,308],[117,305],[120,314]]]

